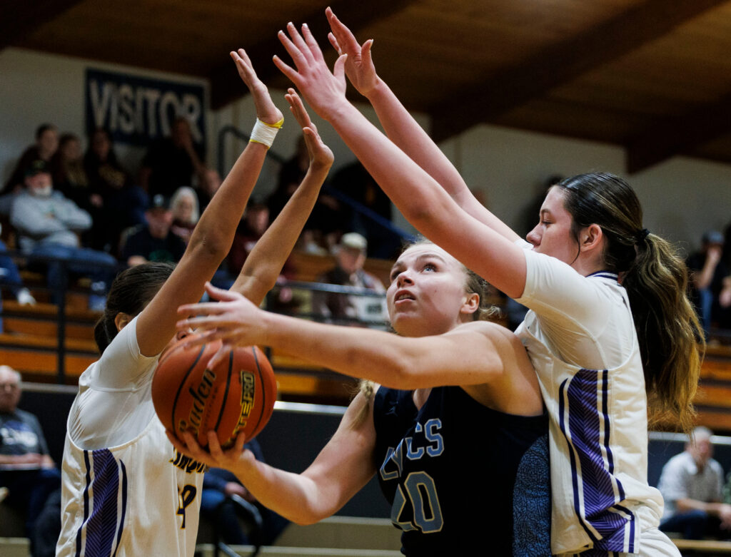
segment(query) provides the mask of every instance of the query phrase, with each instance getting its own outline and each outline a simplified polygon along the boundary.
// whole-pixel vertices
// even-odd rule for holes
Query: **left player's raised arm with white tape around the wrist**
[[[238,73],[254,96],[259,126],[281,126],[282,115],[270,99],[243,49],[231,53]],[[195,227],[189,245],[173,274],[137,320],[140,353],[160,353],[175,334],[176,308],[181,301],[200,299],[203,285],[213,277],[230,250],[236,226],[257,182],[268,146],[249,142],[213,196]]]

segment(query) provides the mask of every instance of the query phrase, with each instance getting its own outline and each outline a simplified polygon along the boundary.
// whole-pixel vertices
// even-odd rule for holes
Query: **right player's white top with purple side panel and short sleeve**
[[[647,483],[645,380],[626,291],[616,274],[582,277],[531,251],[526,263],[518,302],[531,311],[515,332],[550,415],[551,549],[643,553],[662,496]]]

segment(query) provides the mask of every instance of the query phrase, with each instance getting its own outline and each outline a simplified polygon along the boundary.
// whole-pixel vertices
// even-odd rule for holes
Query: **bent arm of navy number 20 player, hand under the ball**
[[[202,450],[189,432],[183,436],[181,442],[167,432],[178,451],[208,466],[231,470],[260,503],[298,524],[333,515],[376,472],[373,405],[363,394],[353,399],[332,439],[301,474],[257,461],[250,450],[244,450],[243,435],[225,453],[215,432],[208,435],[210,453]]]

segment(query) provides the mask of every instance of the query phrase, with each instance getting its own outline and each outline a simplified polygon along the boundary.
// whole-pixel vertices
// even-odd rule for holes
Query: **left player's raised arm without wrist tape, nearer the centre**
[[[267,228],[264,235],[254,245],[249,257],[243,264],[232,291],[246,296],[260,304],[276,283],[284,262],[295,247],[300,232],[317,201],[322,183],[325,182],[330,166],[333,166],[333,152],[317,134],[317,128],[310,120],[302,101],[294,89],[284,96],[289,102],[289,110],[295,116],[305,137],[310,155],[307,174],[295,193],[289,198],[284,209]]]

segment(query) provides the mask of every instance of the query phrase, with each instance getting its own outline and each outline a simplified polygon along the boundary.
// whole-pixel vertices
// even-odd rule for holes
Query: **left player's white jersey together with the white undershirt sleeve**
[[[57,557],[192,557],[205,466],[175,451],[154,413],[157,357],[136,320],[83,373],[69,412]]]

